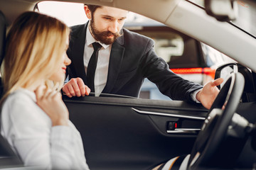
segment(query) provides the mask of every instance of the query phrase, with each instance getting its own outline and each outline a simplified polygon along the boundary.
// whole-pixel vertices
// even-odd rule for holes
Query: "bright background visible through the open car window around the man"
[[[38,3],[38,11],[54,16],[68,26],[74,26],[88,21],[83,6],[79,3],[42,1]],[[156,55],[163,58],[173,72],[199,84],[213,79],[215,65],[222,59],[220,52],[208,45],[136,13],[129,12],[124,28],[153,39]],[[205,68],[210,69],[208,74],[203,70]],[[142,85],[140,98],[170,100],[148,79]]]

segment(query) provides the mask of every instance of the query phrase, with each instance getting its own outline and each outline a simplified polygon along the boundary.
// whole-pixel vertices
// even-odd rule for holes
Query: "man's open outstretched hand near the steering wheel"
[[[196,99],[202,103],[205,108],[210,108],[216,96],[218,96],[219,89],[216,87],[223,83],[223,79],[215,79],[215,81],[209,81],[203,86],[201,91],[196,94]]]

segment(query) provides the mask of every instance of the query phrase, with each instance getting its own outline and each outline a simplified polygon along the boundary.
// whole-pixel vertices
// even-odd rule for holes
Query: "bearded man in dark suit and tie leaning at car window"
[[[201,102],[210,108],[218,95],[215,86],[223,79],[203,87],[171,72],[154,52],[153,40],[122,28],[127,13],[119,8],[85,5],[90,21],[72,28],[68,50],[72,61],[68,67],[70,81],[63,86],[63,92],[69,97],[85,96],[91,90],[95,96],[107,93],[137,97],[144,78],[148,78],[162,94],[174,100]],[[100,43],[97,50],[94,42]],[[88,68],[92,68],[91,56],[95,53],[97,67],[93,75],[87,75],[87,71],[92,72]]]

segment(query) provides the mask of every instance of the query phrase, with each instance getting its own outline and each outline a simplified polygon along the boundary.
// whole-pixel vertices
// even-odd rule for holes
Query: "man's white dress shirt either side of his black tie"
[[[92,34],[89,30],[90,23],[87,26],[86,30],[86,39],[85,39],[85,51],[84,51],[84,66],[85,73],[87,74],[87,66],[90,61],[90,57],[93,53],[92,43],[96,42],[95,38],[92,37]],[[110,51],[112,45],[105,45],[102,42],[99,42],[102,45],[102,48],[98,54],[97,67],[95,71],[95,96],[100,96],[105,85],[107,84],[107,73],[110,62]]]

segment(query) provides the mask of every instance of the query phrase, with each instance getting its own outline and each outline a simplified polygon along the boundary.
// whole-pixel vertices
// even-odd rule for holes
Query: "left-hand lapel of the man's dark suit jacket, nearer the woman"
[[[85,74],[84,66],[84,50],[85,50],[85,35],[87,30],[88,23],[85,24],[85,27],[80,29],[78,33],[74,35],[74,44],[73,44],[73,61],[75,65],[75,72],[77,77],[82,78],[82,80],[87,84],[87,78]],[[79,36],[78,36],[79,35]]]

